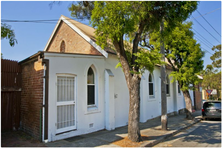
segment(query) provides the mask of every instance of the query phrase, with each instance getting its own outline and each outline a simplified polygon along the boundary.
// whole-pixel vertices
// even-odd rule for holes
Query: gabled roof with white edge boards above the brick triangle
[[[61,17],[59,18],[59,21],[56,24],[56,27],[53,30],[53,33],[52,33],[51,37],[49,38],[49,41],[47,42],[44,51],[47,50],[47,48],[48,48],[50,42],[52,41],[61,21],[66,23],[70,28],[72,28],[75,32],[77,32],[83,39],[85,39],[89,44],[91,44],[103,56],[105,56],[106,58],[108,57],[108,53],[96,44],[95,33],[94,33],[95,29],[94,28],[87,26],[85,24],[82,24],[80,22],[77,22],[77,21],[70,19],[68,17],[65,17],[63,15],[61,15]]]

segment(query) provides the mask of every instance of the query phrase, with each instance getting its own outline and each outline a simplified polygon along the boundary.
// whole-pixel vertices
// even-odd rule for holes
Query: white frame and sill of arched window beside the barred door
[[[92,68],[93,73],[94,73],[94,84],[88,84],[87,83],[89,68]],[[98,109],[98,81],[97,81],[97,72],[96,72],[95,66],[91,65],[89,68],[86,71],[86,103],[87,103],[87,110],[91,111],[91,110],[97,110]],[[88,105],[88,85],[94,85],[95,104],[92,104],[92,105]]]

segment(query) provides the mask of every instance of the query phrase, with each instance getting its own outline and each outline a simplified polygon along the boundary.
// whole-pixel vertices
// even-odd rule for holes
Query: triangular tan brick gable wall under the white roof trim
[[[64,22],[58,27],[47,51],[60,52],[62,41],[65,42],[65,53],[102,55]]]

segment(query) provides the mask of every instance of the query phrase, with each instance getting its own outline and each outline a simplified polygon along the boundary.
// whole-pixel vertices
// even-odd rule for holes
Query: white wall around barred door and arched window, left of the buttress
[[[49,59],[49,141],[55,141],[104,129],[104,57],[45,53]],[[97,79],[97,108],[87,107],[87,72],[93,65]],[[76,130],[56,135],[57,75],[76,75]]]

